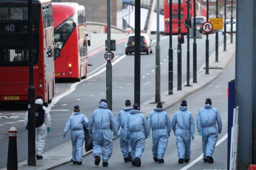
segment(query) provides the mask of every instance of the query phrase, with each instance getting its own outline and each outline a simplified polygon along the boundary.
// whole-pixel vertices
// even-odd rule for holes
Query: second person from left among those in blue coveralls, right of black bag
[[[101,99],[99,108],[94,110],[90,116],[88,127],[90,135],[93,135],[93,157],[95,158],[95,165],[99,165],[100,156],[102,154],[102,166],[108,166],[108,159],[111,157],[113,151],[113,139],[110,125],[113,128],[113,136],[117,138],[115,117],[112,111],[108,109],[106,99]]]

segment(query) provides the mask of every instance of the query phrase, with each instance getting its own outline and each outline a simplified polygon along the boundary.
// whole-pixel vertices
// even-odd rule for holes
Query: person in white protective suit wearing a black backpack
[[[28,129],[28,111],[24,118],[25,128]],[[35,101],[35,149],[36,159],[43,159],[43,151],[47,133],[51,127],[51,116],[47,108],[43,106],[42,99]]]

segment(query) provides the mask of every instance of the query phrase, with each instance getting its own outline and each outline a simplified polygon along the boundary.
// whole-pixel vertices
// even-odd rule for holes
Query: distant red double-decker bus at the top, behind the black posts
[[[187,28],[186,28],[186,19],[187,19],[187,2],[189,0],[180,0],[180,33],[186,34]],[[190,0],[190,10],[189,10],[189,16],[190,18],[194,16],[194,6],[193,1]],[[164,6],[163,6],[163,13],[164,13],[164,33],[169,34],[170,30],[170,16],[169,16],[169,10],[170,9],[170,0],[164,0]],[[204,16],[206,15],[206,11],[201,6],[199,2],[196,2],[196,16]],[[178,0],[172,0],[172,33],[178,34]],[[193,24],[193,23],[192,23]]]

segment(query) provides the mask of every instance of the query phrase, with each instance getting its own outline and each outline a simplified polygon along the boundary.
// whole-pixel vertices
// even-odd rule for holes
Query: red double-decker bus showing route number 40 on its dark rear
[[[54,34],[51,0],[33,0],[35,96],[45,105],[55,94]],[[28,101],[28,1],[0,0],[0,102]]]

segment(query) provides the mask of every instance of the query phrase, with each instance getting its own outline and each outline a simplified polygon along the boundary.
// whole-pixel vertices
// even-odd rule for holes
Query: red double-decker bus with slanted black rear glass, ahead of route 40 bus
[[[84,6],[78,3],[52,3],[52,11],[55,47],[61,49],[61,56],[55,59],[55,78],[81,81],[88,72]]]

